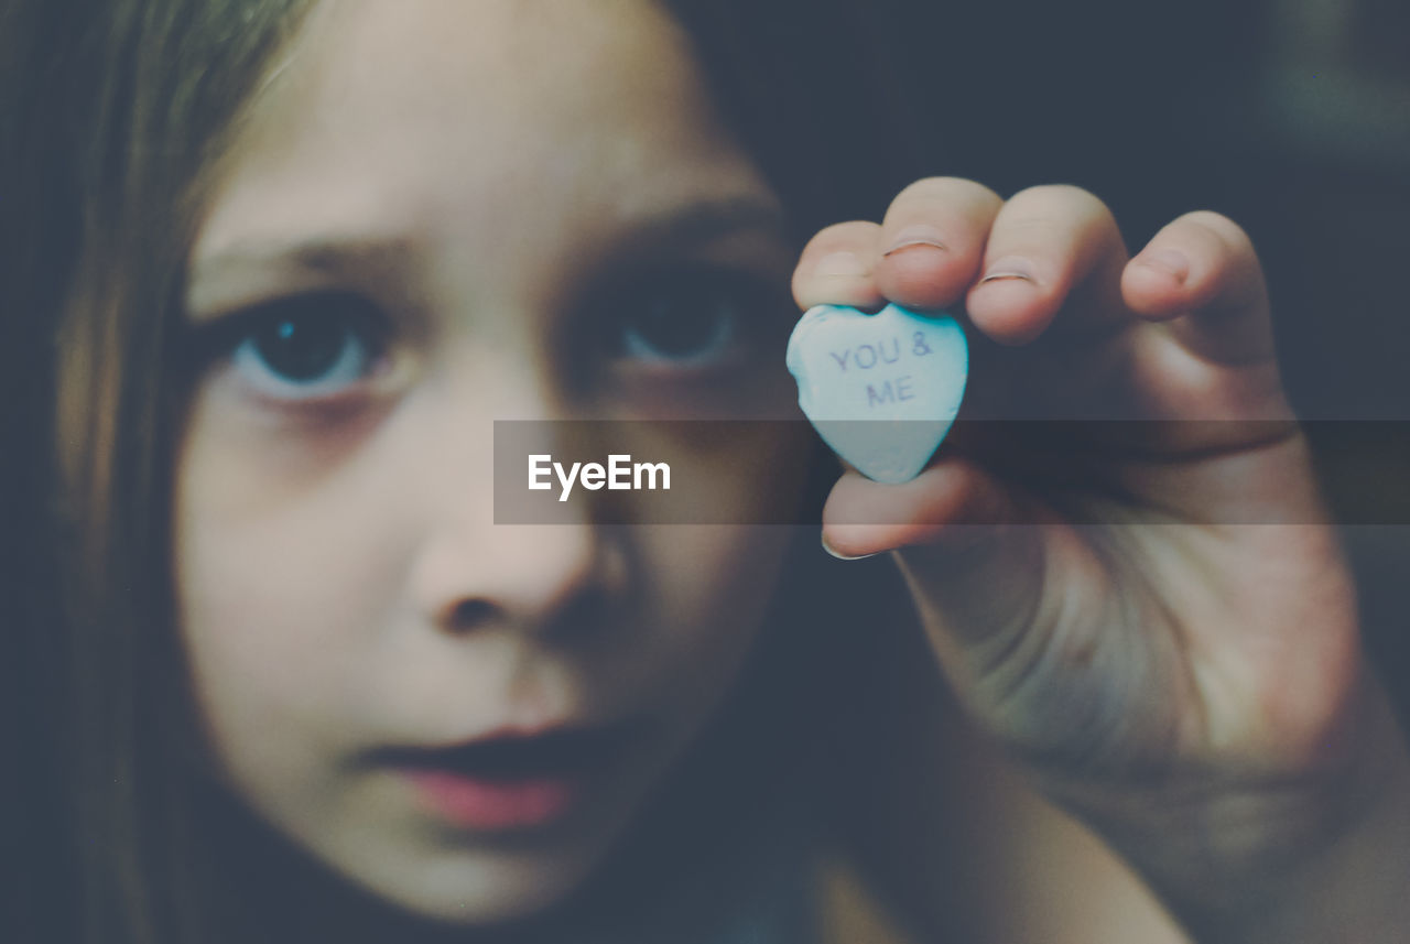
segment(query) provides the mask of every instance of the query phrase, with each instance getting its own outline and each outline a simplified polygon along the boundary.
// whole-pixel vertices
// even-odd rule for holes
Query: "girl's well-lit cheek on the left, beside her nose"
[[[193,424],[178,466],[175,583],[217,747],[324,714],[357,717],[368,682],[360,654],[398,586],[395,534],[371,517],[385,514],[386,497],[368,500],[331,473],[314,483],[268,448],[202,428]]]

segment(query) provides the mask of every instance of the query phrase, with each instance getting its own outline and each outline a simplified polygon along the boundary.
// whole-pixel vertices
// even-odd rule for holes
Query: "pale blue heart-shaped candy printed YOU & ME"
[[[877,482],[931,461],[964,396],[969,345],[948,314],[819,304],[788,338],[798,406],[832,451]]]

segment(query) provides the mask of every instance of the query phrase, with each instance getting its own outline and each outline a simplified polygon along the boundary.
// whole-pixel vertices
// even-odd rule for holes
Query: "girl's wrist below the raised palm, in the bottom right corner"
[[[1341,759],[1314,771],[1050,793],[1201,944],[1399,941],[1410,924],[1410,754],[1383,689],[1362,695]]]

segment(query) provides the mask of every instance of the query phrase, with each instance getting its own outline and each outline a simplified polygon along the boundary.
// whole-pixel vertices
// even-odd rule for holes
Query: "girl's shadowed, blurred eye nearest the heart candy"
[[[677,272],[653,276],[611,304],[616,359],[658,369],[701,369],[744,354],[777,307],[777,293],[753,276]]]

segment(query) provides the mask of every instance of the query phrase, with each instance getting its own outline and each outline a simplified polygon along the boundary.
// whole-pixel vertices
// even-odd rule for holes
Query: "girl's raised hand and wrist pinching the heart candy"
[[[1050,797],[1211,940],[1403,898],[1347,864],[1406,845],[1410,781],[1238,225],[1191,213],[1131,258],[1076,187],[928,179],[814,237],[794,294],[967,313],[986,423],[905,485],[846,472],[823,541],[897,551],[966,709]]]

